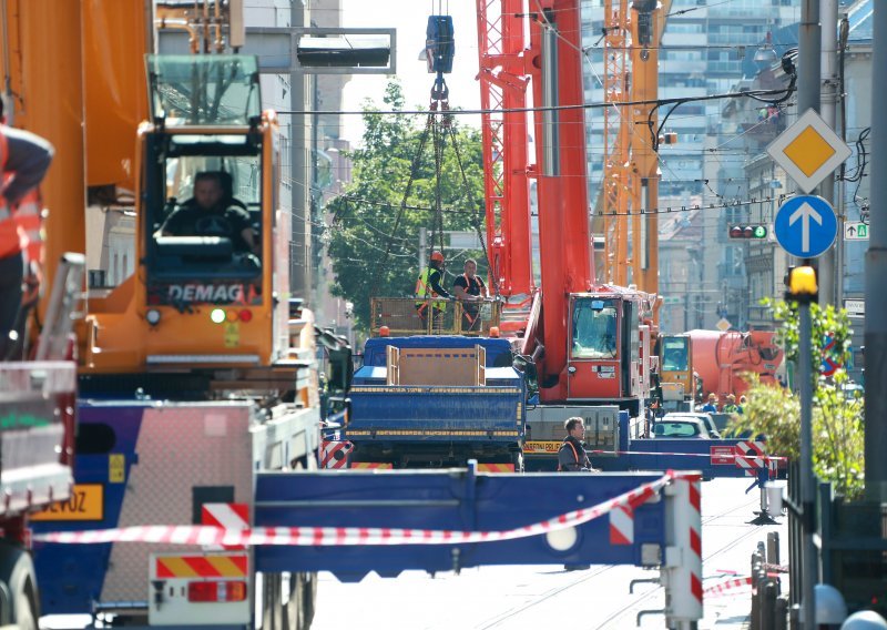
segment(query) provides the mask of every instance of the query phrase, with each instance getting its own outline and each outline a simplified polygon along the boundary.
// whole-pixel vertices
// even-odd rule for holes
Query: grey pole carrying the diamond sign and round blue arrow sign
[[[819,0],[803,0],[801,7],[801,30],[798,33],[798,91],[797,111],[803,114],[808,109],[819,111],[819,80],[822,30],[819,28]],[[873,145],[876,146],[876,145]],[[819,562],[813,537],[816,534],[816,484],[813,476],[812,409],[813,386],[809,374],[810,326],[809,305],[801,309],[798,352],[801,362],[801,501],[803,536],[801,543],[801,607],[804,611],[804,630],[816,628],[816,604],[814,587],[818,581]],[[806,311],[806,326],[805,326]],[[805,334],[806,333],[806,334]],[[806,357],[806,358],[805,358]],[[806,365],[805,365],[806,364]],[[807,369],[805,369],[805,367]]]

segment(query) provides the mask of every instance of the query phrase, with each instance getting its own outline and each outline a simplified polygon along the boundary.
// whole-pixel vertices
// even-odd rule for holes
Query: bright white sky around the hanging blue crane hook
[[[452,16],[456,34],[456,59],[452,73],[445,79],[450,90],[450,106],[480,108],[478,74],[477,2],[476,0],[343,0],[343,27],[397,29],[397,77],[404,88],[409,109],[428,108],[434,83],[419,52],[425,48],[425,29],[428,16]],[[439,11],[439,12],[438,12]],[[386,74],[358,74],[345,85],[344,110],[359,110],[366,98],[381,105]],[[360,116],[344,116],[343,138],[356,144],[363,134]],[[480,126],[480,116],[469,116],[463,122]]]

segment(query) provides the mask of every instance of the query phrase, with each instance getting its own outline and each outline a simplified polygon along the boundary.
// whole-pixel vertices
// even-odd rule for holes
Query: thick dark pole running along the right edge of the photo
[[[887,3],[873,2],[875,31],[871,38],[871,84],[887,81]],[[880,33],[880,38],[878,38]],[[871,102],[878,104],[878,90],[871,90]],[[879,110],[873,110],[877,112]],[[871,146],[885,146],[887,122],[871,116]],[[884,501],[887,497],[887,397],[883,384],[887,379],[887,153],[871,152],[871,214],[866,252],[866,494]]]

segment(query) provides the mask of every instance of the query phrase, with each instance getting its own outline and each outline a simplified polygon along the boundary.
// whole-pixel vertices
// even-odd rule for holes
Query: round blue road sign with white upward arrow
[[[773,232],[783,250],[793,256],[815,258],[835,242],[838,222],[835,211],[823,197],[798,195],[779,206]]]

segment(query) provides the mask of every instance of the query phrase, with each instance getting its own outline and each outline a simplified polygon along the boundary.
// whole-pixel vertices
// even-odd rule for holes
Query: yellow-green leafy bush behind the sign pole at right
[[[776,321],[782,322],[778,338],[786,360],[797,362],[798,344],[797,304],[767,302]],[[823,342],[834,341],[828,356],[840,365],[849,359],[849,318],[846,311],[833,306],[820,308],[810,305],[814,343],[809,353],[816,374],[813,389],[813,469],[819,479],[835,485],[837,492],[848,499],[859,498],[865,489],[865,443],[863,398],[847,398],[843,385],[848,377],[840,368],[830,377],[818,374],[823,362]],[[743,415],[731,419],[731,430],[748,430],[767,436],[768,450],[797,459],[801,455],[801,405],[788,389],[764,385],[754,377],[747,392],[748,402]]]

